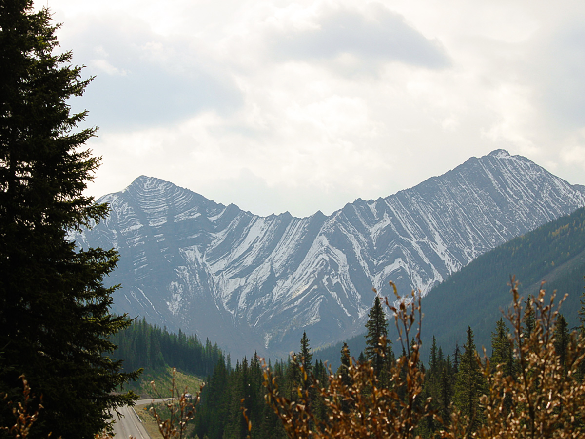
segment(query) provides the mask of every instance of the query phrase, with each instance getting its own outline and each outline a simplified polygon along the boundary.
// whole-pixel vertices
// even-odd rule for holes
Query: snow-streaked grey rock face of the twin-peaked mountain
[[[585,205],[572,186],[496,150],[326,217],[258,217],[139,177],[74,238],[121,254],[115,311],[209,337],[232,355],[286,355],[362,332],[372,287],[423,294],[488,249]]]

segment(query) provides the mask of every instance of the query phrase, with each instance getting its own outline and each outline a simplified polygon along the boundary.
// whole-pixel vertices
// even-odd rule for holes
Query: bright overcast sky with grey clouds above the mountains
[[[585,2],[43,0],[95,75],[90,193],[325,214],[507,149],[585,183]]]

